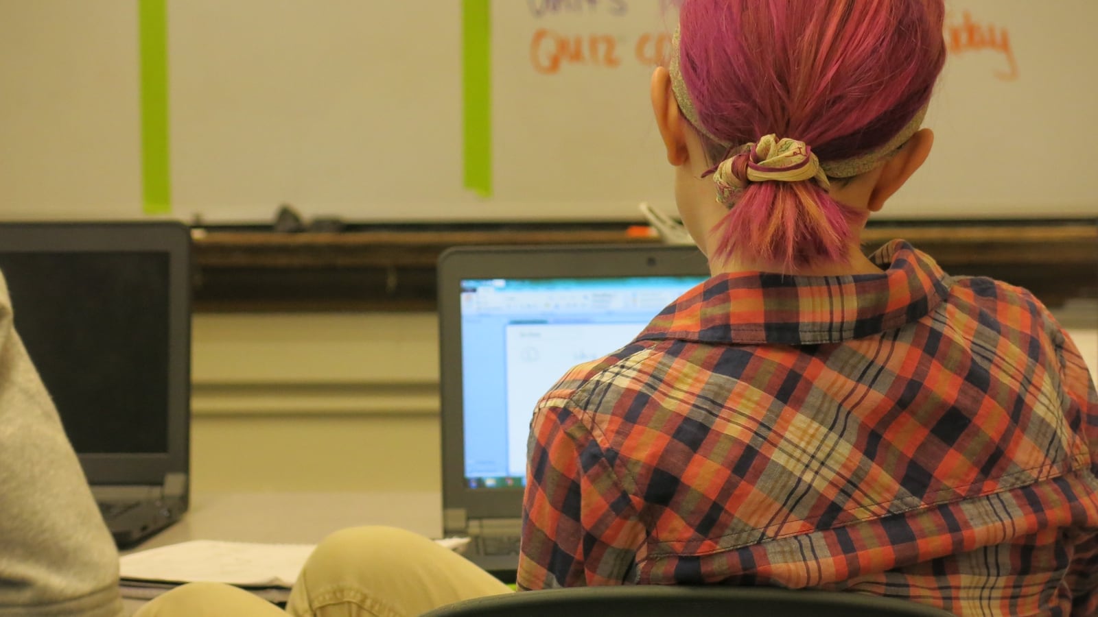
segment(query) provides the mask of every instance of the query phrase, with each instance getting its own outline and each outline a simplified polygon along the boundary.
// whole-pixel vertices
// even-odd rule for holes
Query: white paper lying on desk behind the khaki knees
[[[461,551],[469,538],[436,540]],[[242,587],[292,587],[315,545],[265,545],[192,540],[124,556],[123,581],[191,583],[204,581]]]

